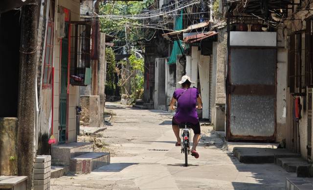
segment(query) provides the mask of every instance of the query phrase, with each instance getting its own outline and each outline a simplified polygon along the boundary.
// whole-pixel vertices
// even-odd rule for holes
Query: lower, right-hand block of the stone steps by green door
[[[70,159],[70,172],[90,173],[92,170],[110,164],[110,153],[90,152]]]

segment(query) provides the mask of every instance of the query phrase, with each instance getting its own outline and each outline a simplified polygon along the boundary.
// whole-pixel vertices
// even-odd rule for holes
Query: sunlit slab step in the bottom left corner
[[[0,189],[26,190],[26,176],[0,176]]]

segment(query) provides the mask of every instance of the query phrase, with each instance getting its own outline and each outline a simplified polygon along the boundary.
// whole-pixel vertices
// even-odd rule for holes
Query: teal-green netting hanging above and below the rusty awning
[[[182,30],[182,9],[180,11],[180,15],[176,17],[174,30],[175,31]],[[181,41],[180,40],[174,41],[174,46],[173,46],[173,49],[172,49],[172,53],[171,53],[171,56],[170,56],[167,64],[169,64],[169,65],[170,64],[176,64],[176,62],[177,62],[177,55],[181,55],[180,48],[182,49]]]

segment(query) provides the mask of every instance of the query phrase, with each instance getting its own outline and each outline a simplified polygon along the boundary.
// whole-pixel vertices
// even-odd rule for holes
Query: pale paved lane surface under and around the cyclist
[[[111,165],[87,175],[51,180],[52,190],[284,190],[286,177],[294,177],[273,164],[239,163],[223,142],[203,126],[199,159],[175,147],[171,114],[106,103],[117,116],[103,132],[102,141],[113,152]]]

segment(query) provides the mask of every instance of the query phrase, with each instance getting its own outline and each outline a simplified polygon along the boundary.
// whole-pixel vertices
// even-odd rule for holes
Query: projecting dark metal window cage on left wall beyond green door
[[[90,30],[87,23],[71,24],[70,84],[87,86],[91,80]]]

